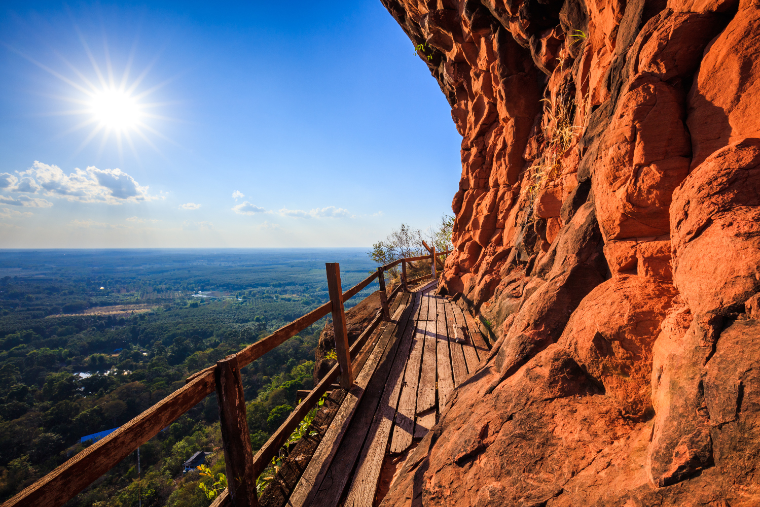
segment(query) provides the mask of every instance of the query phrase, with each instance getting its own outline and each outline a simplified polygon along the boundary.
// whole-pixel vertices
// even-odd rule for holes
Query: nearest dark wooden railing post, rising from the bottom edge
[[[226,356],[217,361],[214,377],[217,384],[227,492],[232,497],[234,507],[258,507],[251,437],[245,419],[245,397],[242,393],[237,355]]]

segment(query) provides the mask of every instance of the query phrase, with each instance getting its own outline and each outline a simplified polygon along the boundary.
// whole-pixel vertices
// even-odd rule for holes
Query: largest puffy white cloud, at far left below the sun
[[[7,173],[5,173],[7,174]],[[11,192],[42,193],[46,197],[61,197],[69,201],[105,202],[106,204],[123,204],[157,199],[147,193],[148,187],[142,187],[135,178],[120,169],[98,169],[88,166],[82,171],[78,167],[74,172],[65,174],[56,165],[34,161],[27,171],[16,177],[5,177]]]

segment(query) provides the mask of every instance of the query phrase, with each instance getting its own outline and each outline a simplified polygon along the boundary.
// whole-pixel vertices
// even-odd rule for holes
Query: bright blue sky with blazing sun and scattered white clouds
[[[451,214],[461,137],[379,0],[0,13],[0,247],[365,247]]]

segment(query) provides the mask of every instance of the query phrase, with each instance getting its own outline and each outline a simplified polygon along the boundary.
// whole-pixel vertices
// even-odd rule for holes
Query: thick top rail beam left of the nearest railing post
[[[3,504],[59,507],[214,392],[214,371],[194,378]]]

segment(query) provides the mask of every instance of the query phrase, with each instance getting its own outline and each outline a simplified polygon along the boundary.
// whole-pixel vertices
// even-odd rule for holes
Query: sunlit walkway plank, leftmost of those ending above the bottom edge
[[[414,324],[412,349],[409,353],[409,359],[407,359],[406,369],[404,370],[404,385],[401,387],[401,397],[399,397],[398,408],[394,417],[396,426],[393,429],[393,437],[391,438],[392,453],[404,452],[412,445],[417,387],[420,385],[420,365],[423,359],[425,330],[427,327],[424,320],[418,320]]]

